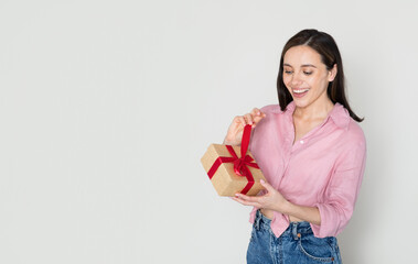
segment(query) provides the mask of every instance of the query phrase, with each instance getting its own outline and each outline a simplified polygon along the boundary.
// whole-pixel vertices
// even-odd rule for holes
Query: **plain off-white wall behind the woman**
[[[302,29],[344,62],[367,139],[344,263],[416,257],[415,1],[0,1],[0,263],[245,263],[250,208],[200,158],[277,103]]]

